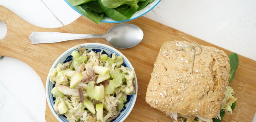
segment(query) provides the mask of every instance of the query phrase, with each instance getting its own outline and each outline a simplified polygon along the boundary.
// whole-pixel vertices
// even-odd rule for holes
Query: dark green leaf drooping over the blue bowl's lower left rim
[[[90,20],[97,24],[100,24],[100,21],[104,16],[104,13],[97,13],[85,5],[77,5],[75,8],[77,8],[84,16],[88,17]]]

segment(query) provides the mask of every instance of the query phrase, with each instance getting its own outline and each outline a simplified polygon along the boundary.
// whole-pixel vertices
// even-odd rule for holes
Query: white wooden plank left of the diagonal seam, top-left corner
[[[0,5],[36,26],[43,28],[63,26],[41,0],[0,0]]]

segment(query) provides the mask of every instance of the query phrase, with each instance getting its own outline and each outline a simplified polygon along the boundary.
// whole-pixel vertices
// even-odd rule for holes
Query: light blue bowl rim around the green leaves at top
[[[137,11],[134,15],[132,15],[132,17],[130,19],[127,20],[122,20],[122,21],[116,21],[116,20],[112,20],[109,17],[104,16],[103,19],[101,20],[101,22],[104,23],[123,23],[126,21],[130,21],[130,20],[134,20],[138,17],[143,16],[144,14],[146,14],[147,12],[149,12],[151,9],[153,9],[161,0],[154,0],[152,3],[148,4],[145,8],[143,8],[140,11]],[[74,6],[72,6],[71,4],[69,4],[69,2],[67,0],[65,0],[65,2],[71,7],[73,8],[75,11],[77,11],[79,14],[83,15],[80,11],[78,11]],[[83,15],[84,16],[84,15]]]

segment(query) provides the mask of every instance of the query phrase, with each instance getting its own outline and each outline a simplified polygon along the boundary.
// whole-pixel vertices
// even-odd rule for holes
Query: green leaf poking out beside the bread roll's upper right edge
[[[236,53],[231,53],[228,57],[230,60],[230,72],[228,81],[232,81],[235,77],[236,69],[238,67],[238,55]]]

